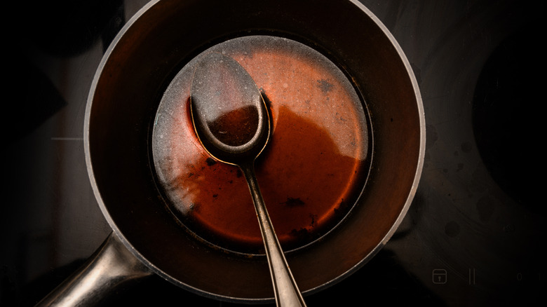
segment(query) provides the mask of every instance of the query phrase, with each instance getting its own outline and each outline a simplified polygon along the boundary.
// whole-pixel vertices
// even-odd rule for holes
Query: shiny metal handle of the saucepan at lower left
[[[152,274],[113,232],[86,264],[39,301],[36,307],[95,306],[119,286]]]

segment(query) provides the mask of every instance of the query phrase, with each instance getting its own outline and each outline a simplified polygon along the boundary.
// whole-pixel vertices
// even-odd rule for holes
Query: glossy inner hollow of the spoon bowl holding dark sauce
[[[202,142],[230,151],[256,142],[264,101],[247,71],[231,57],[213,52],[198,58],[190,100]]]

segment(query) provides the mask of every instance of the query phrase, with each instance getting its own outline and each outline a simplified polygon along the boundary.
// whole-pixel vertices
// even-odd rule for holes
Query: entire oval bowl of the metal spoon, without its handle
[[[254,161],[270,135],[268,109],[259,89],[236,60],[204,55],[191,85],[191,118],[211,156],[238,165]]]

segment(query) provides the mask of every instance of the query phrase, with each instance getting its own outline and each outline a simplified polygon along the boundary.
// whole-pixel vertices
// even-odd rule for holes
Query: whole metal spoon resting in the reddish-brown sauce
[[[270,136],[268,109],[255,81],[231,57],[204,55],[196,64],[190,113],[203,148],[218,161],[237,165],[247,180],[266,248],[278,306],[306,306],[292,277],[262,199],[255,159]]]

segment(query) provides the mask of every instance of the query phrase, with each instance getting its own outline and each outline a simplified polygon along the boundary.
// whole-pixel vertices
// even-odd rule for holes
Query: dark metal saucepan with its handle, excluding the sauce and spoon
[[[151,274],[219,300],[273,300],[265,257],[212,248],[174,221],[150,151],[161,95],[180,67],[208,46],[249,34],[316,46],[346,71],[370,112],[372,163],[351,214],[286,254],[304,296],[356,271],[393,235],[419,182],[424,110],[403,50],[367,8],[332,0],[151,1],[109,46],[88,97],[86,163],[112,235],[41,305],[92,305]]]

